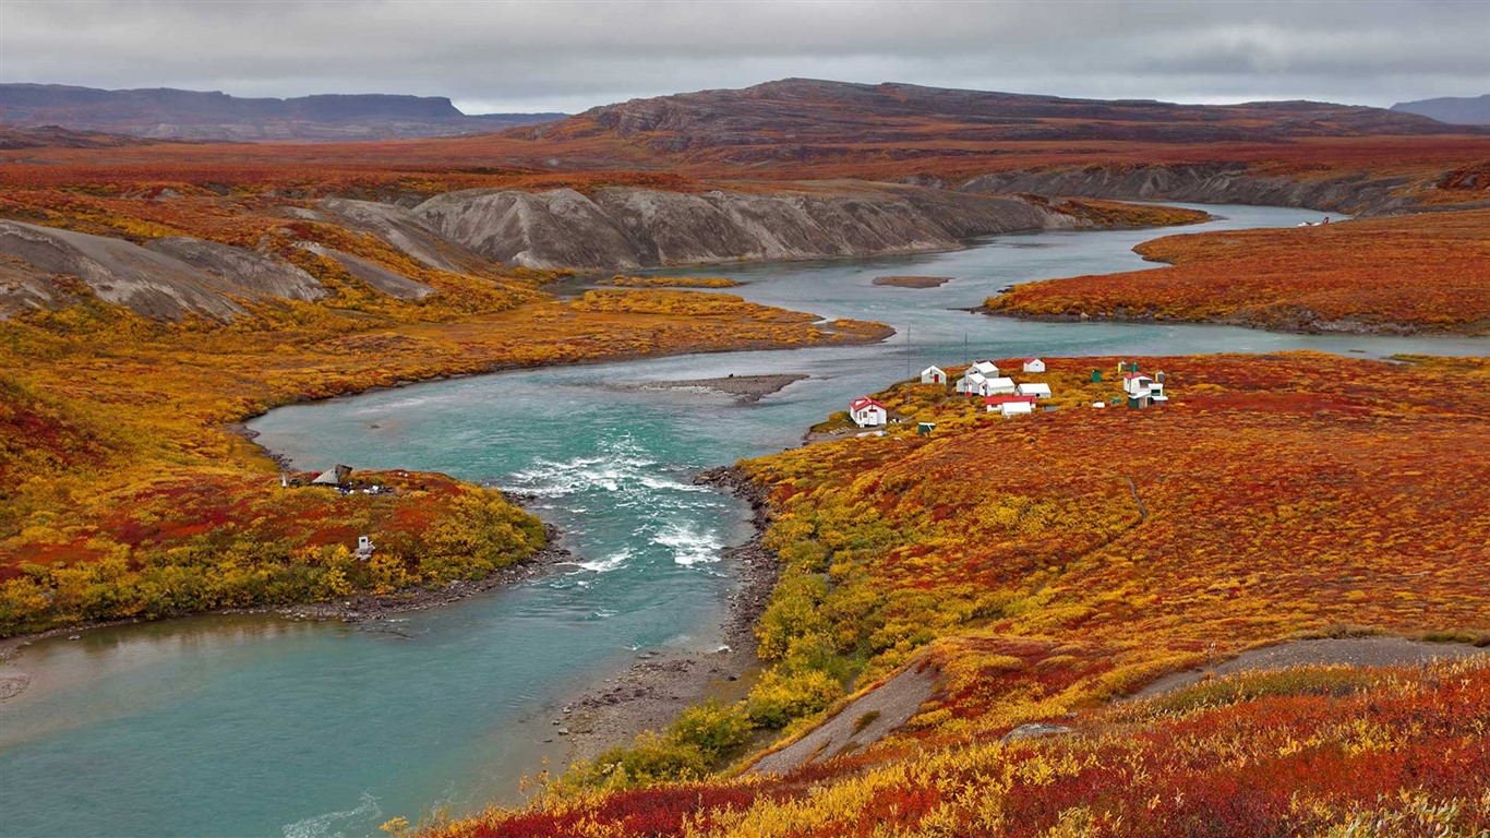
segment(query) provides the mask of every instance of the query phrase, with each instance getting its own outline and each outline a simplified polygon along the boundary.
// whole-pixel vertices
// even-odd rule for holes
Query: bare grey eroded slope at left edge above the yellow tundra
[[[100,300],[148,318],[198,315],[231,321],[243,301],[320,300],[326,289],[308,273],[241,248],[200,239],[158,239],[139,246],[15,221],[0,221],[0,310],[58,307],[67,279]]]

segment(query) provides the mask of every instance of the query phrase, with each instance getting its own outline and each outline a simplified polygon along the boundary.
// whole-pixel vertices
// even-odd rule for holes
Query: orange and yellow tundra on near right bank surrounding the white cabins
[[[895,385],[876,397],[906,419],[887,437],[745,462],[770,489],[782,568],[749,696],[548,778],[529,808],[434,834],[1490,829],[1483,661],[1250,672],[1119,701],[1290,638],[1490,637],[1490,482],[1463,468],[1490,453],[1490,364],[1144,358],[1168,406],[1092,409],[1119,391],[1118,361],[1047,359],[1021,380],[1050,383],[1058,410],[1012,419]],[[919,437],[915,420],[937,428]],[[904,667],[940,686],[898,734],[785,775],[708,774],[752,757],[700,747],[700,728],[790,741]],[[1036,722],[1073,732],[1003,741]]]

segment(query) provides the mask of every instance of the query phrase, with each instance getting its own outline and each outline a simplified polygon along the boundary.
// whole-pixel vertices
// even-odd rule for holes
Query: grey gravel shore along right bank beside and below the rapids
[[[694,483],[729,489],[749,503],[754,513],[754,535],[723,553],[739,579],[720,625],[726,646],[717,652],[642,652],[626,672],[605,678],[563,705],[553,719],[554,734],[568,740],[559,772],[611,747],[629,746],[644,731],[666,728],[705,698],[744,698],[752,675],[761,670],[755,620],[766,610],[779,571],[776,556],[761,546],[769,522],[766,489],[733,465],[703,471]],[[541,741],[551,744],[554,738]]]

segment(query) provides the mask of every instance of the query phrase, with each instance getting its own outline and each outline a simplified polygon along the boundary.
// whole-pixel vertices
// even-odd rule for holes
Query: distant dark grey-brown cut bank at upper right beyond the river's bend
[[[1299,179],[1252,171],[1247,164],[1088,166],[998,171],[958,189],[979,194],[1033,192],[1088,198],[1156,198],[1207,204],[1308,207],[1351,215],[1416,212],[1414,195],[1395,194],[1411,179],[1392,174],[1345,174]],[[1463,204],[1456,209],[1465,209]]]

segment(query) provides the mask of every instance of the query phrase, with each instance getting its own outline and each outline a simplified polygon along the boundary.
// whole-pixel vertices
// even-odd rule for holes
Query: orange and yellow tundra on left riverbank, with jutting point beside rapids
[[[137,243],[194,236],[249,248],[329,295],[244,300],[231,322],[162,322],[55,277],[63,304],[0,315],[0,635],[417,592],[542,546],[530,516],[441,476],[416,474],[389,495],[282,489],[279,468],[231,432],[277,404],[504,367],[884,334],[694,291],[557,301],[542,291],[554,274],[468,255],[456,256],[462,273],[437,270],[375,236],[288,218],[294,198],[252,186],[6,186],[3,216]],[[434,294],[389,297],[310,245]],[[361,534],[378,544],[371,564],[349,559]]]

